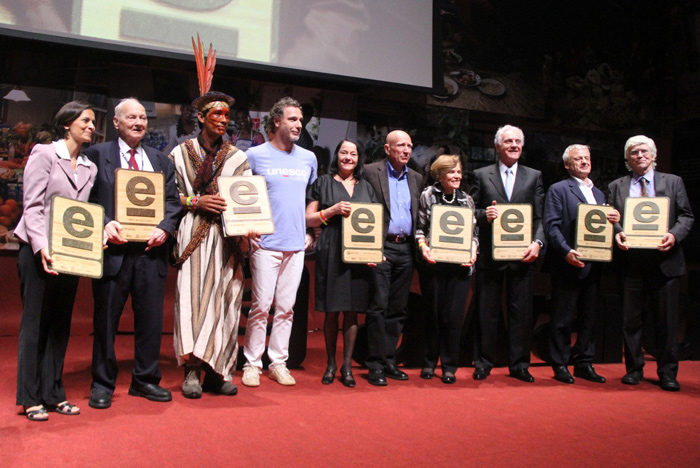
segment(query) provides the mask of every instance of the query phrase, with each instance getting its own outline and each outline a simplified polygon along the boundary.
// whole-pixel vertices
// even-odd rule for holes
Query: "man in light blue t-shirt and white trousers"
[[[287,369],[294,301],[304,268],[306,244],[306,188],[316,180],[316,156],[294,143],[301,132],[301,105],[280,99],[270,111],[273,137],[269,143],[246,151],[253,173],[267,183],[274,234],[251,241],[250,271],[253,277],[252,308],[248,314],[243,385],[260,385],[270,307],[275,314],[267,354],[270,378],[282,385],[296,381]],[[304,311],[305,312],[305,311]]]

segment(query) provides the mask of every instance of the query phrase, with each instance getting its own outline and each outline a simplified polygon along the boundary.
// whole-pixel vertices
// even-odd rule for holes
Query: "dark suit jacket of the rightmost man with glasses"
[[[630,193],[631,175],[620,177],[610,183],[608,203],[617,208],[624,219],[625,199]],[[669,277],[681,276],[685,273],[685,259],[681,242],[688,236],[693,225],[694,216],[688,202],[683,179],[673,174],[654,171],[654,188],[657,197],[670,199],[668,217],[668,232],[676,238],[676,244],[668,252],[650,249],[616,250],[616,261],[623,272],[632,272],[642,264],[658,265],[661,272]],[[620,224],[615,225],[615,232],[622,231]]]

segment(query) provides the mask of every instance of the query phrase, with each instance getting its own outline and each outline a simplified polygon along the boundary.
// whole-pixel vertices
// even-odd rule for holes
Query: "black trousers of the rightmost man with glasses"
[[[637,269],[622,278],[622,333],[625,340],[627,372],[642,371],[644,352],[644,303],[651,299],[657,348],[656,372],[661,377],[678,374],[678,294],[679,279],[668,278],[655,265]]]

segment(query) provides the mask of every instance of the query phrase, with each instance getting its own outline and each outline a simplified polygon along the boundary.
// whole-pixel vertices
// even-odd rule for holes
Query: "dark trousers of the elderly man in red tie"
[[[110,394],[114,392],[119,370],[114,340],[129,295],[134,310],[134,371],[131,381],[134,384],[160,382],[158,358],[163,333],[165,276],[158,273],[157,261],[133,249],[124,255],[118,274],[93,281],[93,388]]]

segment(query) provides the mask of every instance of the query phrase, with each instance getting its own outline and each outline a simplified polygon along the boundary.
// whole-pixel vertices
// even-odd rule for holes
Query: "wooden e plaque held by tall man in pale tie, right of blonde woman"
[[[498,218],[493,220],[494,260],[522,260],[532,243],[532,205],[499,203]]]

